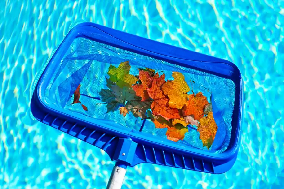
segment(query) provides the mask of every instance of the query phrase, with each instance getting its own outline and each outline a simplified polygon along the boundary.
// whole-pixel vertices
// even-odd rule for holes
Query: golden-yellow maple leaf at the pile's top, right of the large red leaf
[[[162,90],[170,99],[168,102],[169,107],[181,109],[187,102],[187,92],[190,91],[190,88],[185,82],[182,73],[174,71],[172,76],[174,80],[168,80],[163,84]]]

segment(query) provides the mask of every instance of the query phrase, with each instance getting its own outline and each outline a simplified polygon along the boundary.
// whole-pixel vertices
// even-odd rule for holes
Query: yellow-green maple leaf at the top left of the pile
[[[130,68],[129,61],[121,62],[118,68],[110,65],[107,72],[110,76],[110,81],[115,82],[120,88],[131,87],[138,79],[129,73]]]

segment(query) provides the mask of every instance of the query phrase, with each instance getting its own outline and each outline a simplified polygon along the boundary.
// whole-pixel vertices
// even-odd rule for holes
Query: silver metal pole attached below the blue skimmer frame
[[[117,164],[116,164],[117,165]],[[106,189],[120,189],[126,174],[126,166],[114,165]],[[125,168],[123,168],[125,167]]]

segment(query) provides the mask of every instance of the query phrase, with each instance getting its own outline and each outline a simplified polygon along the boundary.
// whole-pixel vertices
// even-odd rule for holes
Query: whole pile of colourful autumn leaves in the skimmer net
[[[203,146],[209,149],[218,127],[211,103],[202,92],[189,94],[179,72],[172,73],[174,80],[166,81],[165,74],[153,69],[141,68],[139,75],[131,75],[130,68],[128,61],[108,68],[108,88],[99,92],[107,113],[119,109],[124,117],[132,112],[135,117],[150,119],[156,128],[167,128],[167,139],[175,142],[184,139],[189,125],[195,125]]]

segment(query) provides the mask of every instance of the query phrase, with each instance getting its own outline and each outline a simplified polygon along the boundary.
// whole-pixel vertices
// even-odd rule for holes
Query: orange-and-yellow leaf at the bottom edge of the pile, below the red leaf
[[[184,134],[188,132],[188,128],[184,127],[181,124],[176,124],[173,127],[168,127],[168,131],[166,132],[167,139],[177,142],[179,140],[184,139]]]

